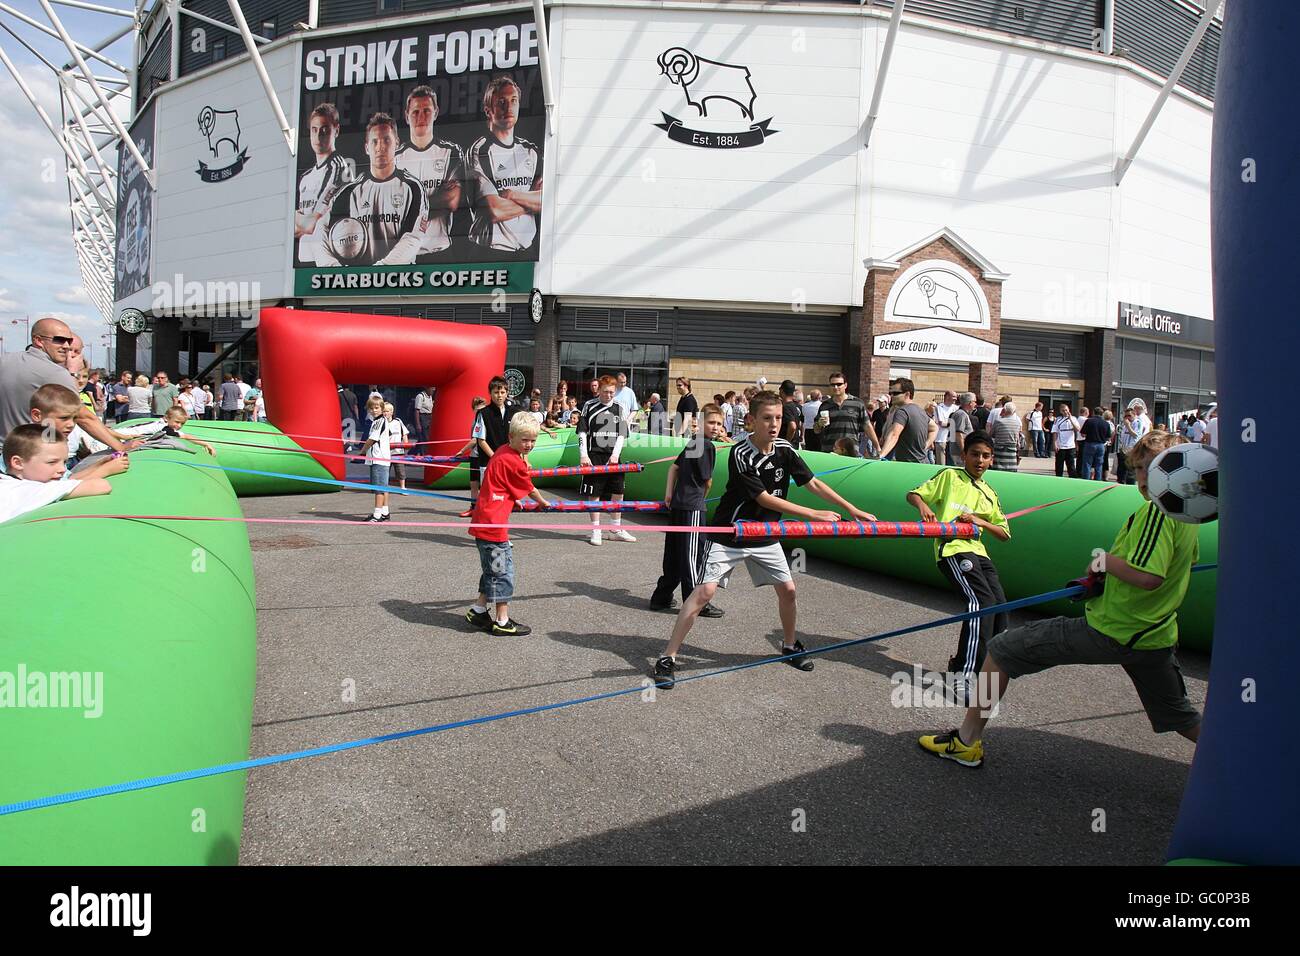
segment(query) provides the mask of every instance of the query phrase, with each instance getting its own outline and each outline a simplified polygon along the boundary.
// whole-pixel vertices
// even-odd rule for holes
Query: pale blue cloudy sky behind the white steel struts
[[[131,1],[96,0],[100,5],[120,9],[126,9]],[[49,21],[38,0],[5,3],[48,26]],[[126,22],[121,17],[57,4],[53,9],[68,33],[86,46],[98,44]],[[57,38],[39,33],[4,10],[0,10],[0,23],[16,31],[56,65],[61,66],[70,59]],[[0,30],[0,48],[13,60],[57,125],[58,86],[53,73],[4,30]],[[124,66],[129,65],[130,38],[120,40],[104,53]],[[103,72],[96,69],[98,75],[112,73],[109,68],[100,66]],[[92,358],[94,365],[112,365],[113,363],[105,362],[105,346],[101,341],[109,328],[82,289],[81,268],[72,239],[64,153],[3,65],[0,129],[5,130],[5,144],[0,150],[0,345],[5,351],[26,347],[29,339],[21,320],[30,316],[35,321],[43,315],[56,315],[86,341],[87,356]]]

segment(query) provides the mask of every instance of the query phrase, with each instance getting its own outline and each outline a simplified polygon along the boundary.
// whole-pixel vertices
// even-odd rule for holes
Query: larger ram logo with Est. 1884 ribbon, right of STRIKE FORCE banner
[[[659,111],[663,122],[655,126],[673,142],[706,150],[741,150],[760,146],[764,137],[780,131],[767,127],[770,118],[753,121],[758,94],[750,82],[749,66],[708,60],[689,49],[672,47],[659,55],[659,73],[681,87],[686,105],[694,108],[698,120],[694,120],[698,129],[692,129],[677,117]]]

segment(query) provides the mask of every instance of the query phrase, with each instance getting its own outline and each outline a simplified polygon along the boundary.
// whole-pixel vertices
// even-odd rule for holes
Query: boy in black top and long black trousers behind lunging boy
[[[672,509],[670,524],[679,527],[705,523],[708,486],[714,481],[714,462],[718,449],[714,442],[727,431],[727,418],[716,405],[706,405],[699,414],[699,431],[668,468],[663,499]],[[663,574],[650,596],[650,610],[675,611],[672,592],[681,587],[681,600],[690,597],[703,574],[703,559],[708,551],[708,538],[699,532],[672,531],[663,536]],[[723,611],[706,604],[699,609],[702,618],[720,618]]]

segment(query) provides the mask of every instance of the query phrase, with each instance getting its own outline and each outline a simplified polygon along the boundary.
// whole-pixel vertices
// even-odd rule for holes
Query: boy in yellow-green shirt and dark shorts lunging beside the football
[[[992,689],[992,701],[984,701],[989,709],[971,706],[961,727],[920,737],[923,749],[962,766],[980,766],[984,727],[1010,680],[1062,663],[1118,663],[1134,682],[1152,730],[1188,740],[1200,736],[1201,715],[1187,698],[1175,654],[1178,609],[1200,554],[1197,527],[1166,518],[1147,493],[1148,466],[1183,441],[1152,432],[1130,451],[1138,490],[1147,501],[1101,555],[1101,592],[1084,605],[1084,617],[1035,620],[993,637],[979,675],[980,685]]]

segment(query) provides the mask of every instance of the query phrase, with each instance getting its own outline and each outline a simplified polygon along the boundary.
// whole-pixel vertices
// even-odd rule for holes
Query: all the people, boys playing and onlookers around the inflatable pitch
[[[107,479],[129,468],[126,453],[142,446],[185,447],[194,444],[214,455],[213,446],[185,427],[195,408],[195,386],[187,380],[172,385],[165,373],[152,381],[124,372],[118,385],[96,389],[96,376],[83,365],[70,367],[75,337],[56,319],[42,319],[31,329],[31,346],[22,352],[0,358],[0,433],[4,473],[0,473],[0,522],[32,511],[62,498],[112,493]],[[1147,467],[1166,447],[1184,441],[1217,442],[1217,418],[1188,416],[1175,423],[1170,433],[1152,427],[1141,402],[1124,410],[1118,425],[1108,421],[1104,410],[1082,420],[1062,406],[1041,418],[1031,412],[1020,420],[1014,402],[1000,399],[984,407],[966,393],[944,395],[940,403],[924,408],[915,399],[915,386],[907,378],[890,385],[887,410],[881,402],[863,402],[848,394],[842,373],[829,376],[829,397],[810,395],[801,401],[794,382],[781,382],[777,392],[759,381],[751,392],[723,394],[723,402],[702,408],[686,402],[690,382],[679,378],[676,385],[681,421],[673,423],[688,436],[670,468],[664,501],[672,510],[673,531],[664,535],[663,575],[650,596],[653,610],[675,613],[671,635],[663,654],[654,662],[654,680],[670,689],[677,682],[677,654],[699,618],[718,618],[723,610],[712,605],[718,589],[727,587],[732,572],[745,566],[757,585],[772,585],[783,640],[780,654],[793,669],[814,669],[809,652],[797,639],[796,584],[780,541],[772,537],[741,537],[727,532],[703,532],[706,503],[712,486],[716,444],[723,444],[728,427],[731,434],[727,485],[715,509],[715,524],[737,520],[772,522],[783,516],[805,520],[835,522],[845,516],[872,522],[875,516],[854,506],[829,485],[823,484],[798,454],[801,445],[815,442],[819,447],[845,447],[858,442],[868,453],[897,460],[928,460],[936,454],[954,466],[931,475],[906,496],[922,520],[970,523],[991,537],[1010,542],[1011,531],[996,489],[984,475],[1000,460],[1019,455],[1026,432],[1050,431],[1058,473],[1069,462],[1082,460],[1086,473],[1105,473],[1105,447],[1114,440],[1121,449],[1121,467],[1131,467],[1143,498],[1147,498]],[[133,384],[134,382],[134,384]],[[618,464],[632,437],[632,421],[644,410],[634,394],[614,376],[601,376],[590,382],[592,395],[585,398],[573,421],[578,444],[578,460],[584,466]],[[546,505],[529,477],[526,455],[533,449],[547,420],[540,394],[528,398],[528,408],[508,399],[508,382],[495,376],[488,384],[490,401],[474,401],[472,438],[464,450],[472,454],[473,502],[463,516],[471,518],[468,532],[476,540],[481,576],[478,593],[465,613],[467,622],[497,636],[523,636],[526,624],[511,614],[515,591],[515,558],[510,540],[510,516],[516,501],[530,497]],[[200,392],[207,390],[199,386]],[[348,407],[339,389],[341,411]],[[188,395],[188,402],[183,397]],[[233,375],[225,376],[218,394],[200,407],[205,412],[239,414],[234,405],[244,401],[250,416],[256,416],[257,397],[242,393]],[[96,399],[103,406],[96,405]],[[105,424],[108,401],[160,415],[156,421],[116,428]],[[430,395],[432,398],[432,395]],[[556,395],[560,398],[560,395]],[[961,401],[957,401],[957,399]],[[569,399],[554,399],[550,406],[568,411]],[[228,407],[229,401],[229,407]],[[355,398],[354,398],[355,403]],[[809,415],[809,403],[816,403]],[[376,505],[369,520],[389,520],[390,468],[394,445],[408,441],[410,432],[394,415],[394,406],[374,392],[368,397],[367,438],[361,446],[369,462],[369,483],[374,486]],[[421,412],[424,411],[421,405]],[[653,403],[647,403],[653,405]],[[875,407],[872,407],[875,406]],[[355,410],[355,406],[354,406]],[[114,408],[114,411],[117,411]],[[429,410],[432,411],[432,408]],[[1041,412],[1036,407],[1035,412]],[[419,414],[417,414],[419,415]],[[568,416],[572,420],[572,415]],[[555,421],[559,424],[559,421]],[[1030,428],[1027,428],[1030,425]],[[1032,428],[1032,425],[1039,425]],[[941,438],[941,428],[946,434]],[[1139,434],[1139,432],[1141,432]],[[1128,438],[1123,436],[1130,436]],[[1050,446],[1044,437],[1032,436],[1035,453]],[[716,442],[716,444],[715,444]],[[1002,449],[1009,449],[1004,454]],[[192,449],[186,449],[192,453]],[[404,475],[398,472],[404,484]],[[624,476],[620,472],[592,472],[582,476],[580,494],[586,501],[623,501]],[[807,507],[789,501],[790,483],[806,488],[826,505]],[[623,527],[618,510],[608,514],[610,538],[633,542]],[[603,542],[602,514],[592,511],[590,544]],[[959,727],[930,734],[919,739],[920,747],[963,766],[976,767],[984,760],[984,730],[992,715],[992,702],[1008,683],[1018,676],[1065,663],[1112,663],[1122,666],[1138,688],[1139,697],[1157,732],[1174,731],[1196,740],[1200,714],[1187,698],[1186,685],[1175,656],[1178,641],[1176,609],[1188,587],[1188,578],[1197,558],[1197,535],[1192,524],[1166,522],[1149,499],[1118,531],[1110,551],[1105,554],[1104,571],[1091,570],[1086,581],[1088,604],[1083,618],[1050,618],[1011,628],[1005,614],[982,615],[984,607],[1005,601],[997,568],[979,538],[940,538],[935,542],[940,571],[954,589],[967,598],[976,617],[961,631],[957,653],[948,662],[952,691],[959,702],[970,704]],[[1102,576],[1105,587],[1102,587]],[[681,605],[675,601],[680,589]],[[978,700],[975,691],[985,687],[992,700]]]

